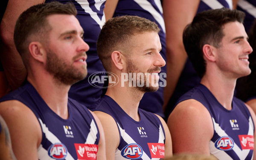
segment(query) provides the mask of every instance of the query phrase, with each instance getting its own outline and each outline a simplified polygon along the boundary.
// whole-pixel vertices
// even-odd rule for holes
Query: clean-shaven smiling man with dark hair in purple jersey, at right
[[[243,12],[221,8],[197,14],[186,26],[183,43],[201,84],[183,95],[169,115],[174,153],[256,158],[256,116],[233,97],[236,80],[251,72],[252,48],[243,20]]]

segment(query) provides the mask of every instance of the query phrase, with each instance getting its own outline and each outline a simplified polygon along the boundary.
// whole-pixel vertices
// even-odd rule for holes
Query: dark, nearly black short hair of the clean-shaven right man
[[[183,44],[195,71],[202,78],[206,71],[203,46],[221,47],[224,37],[223,26],[229,22],[243,23],[245,14],[242,11],[228,8],[210,9],[198,13],[192,23],[183,32]]]

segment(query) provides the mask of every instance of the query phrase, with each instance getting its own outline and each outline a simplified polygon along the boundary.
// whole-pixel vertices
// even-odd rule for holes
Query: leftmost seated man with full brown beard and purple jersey
[[[32,6],[17,20],[14,40],[27,82],[0,99],[18,160],[105,160],[99,119],[68,98],[87,76],[84,34],[73,4]],[[86,151],[85,151],[86,150]]]

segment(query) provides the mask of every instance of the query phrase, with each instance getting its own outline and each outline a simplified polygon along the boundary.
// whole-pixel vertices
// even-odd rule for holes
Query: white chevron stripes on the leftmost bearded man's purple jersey
[[[40,118],[38,118],[38,120],[41,124],[42,131],[44,132],[46,138],[52,144],[61,143],[61,141],[54,134],[52,134],[52,132],[49,131],[48,127],[43,123],[43,121]],[[96,137],[97,133],[98,133],[98,130],[97,130],[96,124],[94,120],[92,120],[90,124],[90,132],[87,136],[85,144],[94,144],[97,138]],[[48,156],[48,151],[44,149],[42,145],[38,147],[38,159],[39,160],[55,160]],[[67,157],[65,158],[65,160],[74,160],[74,158],[70,155],[69,152],[67,152]]]

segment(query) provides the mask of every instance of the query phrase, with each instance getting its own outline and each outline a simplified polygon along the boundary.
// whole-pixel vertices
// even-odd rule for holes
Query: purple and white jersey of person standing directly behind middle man
[[[166,31],[163,21],[163,8],[160,0],[119,0],[116,6],[116,11],[113,17],[133,15],[147,18],[153,22],[156,22],[161,29],[159,33],[160,42],[162,45],[161,56],[166,61]],[[166,66],[161,67],[159,89],[156,92],[147,92],[144,94],[140,101],[139,107],[148,112],[156,113],[161,117],[163,114],[163,89],[166,84]]]

